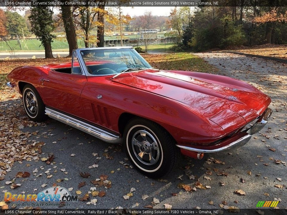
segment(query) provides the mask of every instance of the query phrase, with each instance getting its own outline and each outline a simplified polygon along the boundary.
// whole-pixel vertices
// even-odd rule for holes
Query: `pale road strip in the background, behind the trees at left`
[[[61,57],[65,57],[69,54],[69,52],[65,51],[53,51],[53,56],[57,57],[57,54],[59,54]],[[44,58],[45,52],[44,51],[23,51],[23,52],[0,52],[0,59],[1,58],[32,58],[33,56],[36,56],[36,58]]]

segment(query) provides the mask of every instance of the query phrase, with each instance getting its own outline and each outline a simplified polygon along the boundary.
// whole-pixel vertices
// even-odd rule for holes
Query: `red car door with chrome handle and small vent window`
[[[87,78],[80,70],[75,53],[72,57],[71,73],[50,70],[48,74],[43,73],[41,82],[41,95],[45,105],[85,118],[80,96]]]

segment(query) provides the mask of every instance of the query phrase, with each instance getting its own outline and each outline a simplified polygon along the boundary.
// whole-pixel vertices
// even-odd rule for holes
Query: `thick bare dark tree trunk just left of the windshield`
[[[62,6],[62,19],[64,22],[66,38],[69,44],[69,56],[72,56],[73,50],[78,48],[75,25],[73,22],[71,7]]]

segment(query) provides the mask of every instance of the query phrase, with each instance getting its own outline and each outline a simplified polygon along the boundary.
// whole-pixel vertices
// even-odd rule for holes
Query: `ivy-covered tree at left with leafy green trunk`
[[[52,34],[55,30],[52,16],[53,11],[50,7],[32,7],[31,15],[28,17],[31,23],[31,31],[45,48],[45,58],[53,58],[51,42],[56,36]]]

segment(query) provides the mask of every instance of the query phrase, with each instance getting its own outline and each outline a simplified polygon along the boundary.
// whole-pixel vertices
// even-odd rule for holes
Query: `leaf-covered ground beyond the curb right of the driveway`
[[[287,59],[287,45],[264,44],[253,47],[245,47],[244,49],[237,49],[234,51],[246,54]]]

